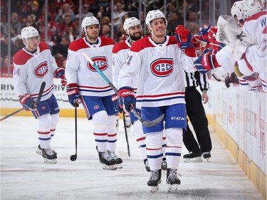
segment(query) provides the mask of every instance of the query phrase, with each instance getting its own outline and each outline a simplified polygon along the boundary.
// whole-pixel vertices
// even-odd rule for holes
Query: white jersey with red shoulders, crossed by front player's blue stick
[[[90,44],[85,38],[70,43],[66,62],[68,84],[76,83],[80,95],[104,97],[114,94],[97,70],[86,60],[86,53],[112,81],[112,48],[115,42],[111,38],[98,37],[98,43]]]

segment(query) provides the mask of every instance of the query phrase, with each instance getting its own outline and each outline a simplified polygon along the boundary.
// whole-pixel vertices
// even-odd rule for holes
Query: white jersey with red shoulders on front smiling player
[[[186,56],[174,36],[166,36],[164,43],[142,38],[132,44],[127,60],[120,70],[119,88],[134,87],[137,83],[137,108],[160,107],[185,103],[184,70],[193,72],[194,57]]]

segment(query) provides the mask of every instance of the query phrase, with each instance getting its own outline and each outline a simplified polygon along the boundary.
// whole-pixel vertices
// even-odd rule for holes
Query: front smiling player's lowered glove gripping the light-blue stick
[[[125,105],[125,110],[131,112],[135,107],[135,92],[133,88],[122,87],[118,94],[123,99],[123,104]]]

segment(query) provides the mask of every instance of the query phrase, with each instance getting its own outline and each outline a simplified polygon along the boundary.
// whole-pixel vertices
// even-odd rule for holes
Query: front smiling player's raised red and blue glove
[[[194,47],[191,43],[192,36],[187,28],[182,25],[178,25],[175,28],[175,37],[178,42],[179,48],[185,49],[188,47]]]

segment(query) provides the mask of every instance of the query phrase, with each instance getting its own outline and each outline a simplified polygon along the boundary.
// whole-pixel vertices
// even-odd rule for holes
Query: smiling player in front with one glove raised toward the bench
[[[147,185],[157,191],[162,177],[162,133],[166,134],[167,184],[169,190],[177,189],[180,180],[179,167],[182,150],[182,129],[187,127],[184,102],[184,68],[192,68],[196,53],[190,43],[191,34],[178,26],[177,39],[166,36],[167,20],[159,10],[149,11],[146,20],[151,37],[142,38],[132,44],[120,70],[119,95],[123,98],[125,110],[135,107],[133,84],[138,74],[136,107],[141,109],[145,120],[155,120],[164,114],[164,121],[152,127],[145,127],[147,159],[151,176]],[[185,48],[185,51],[179,48]],[[192,70],[192,69],[191,69]],[[194,69],[192,70],[194,71]]]

